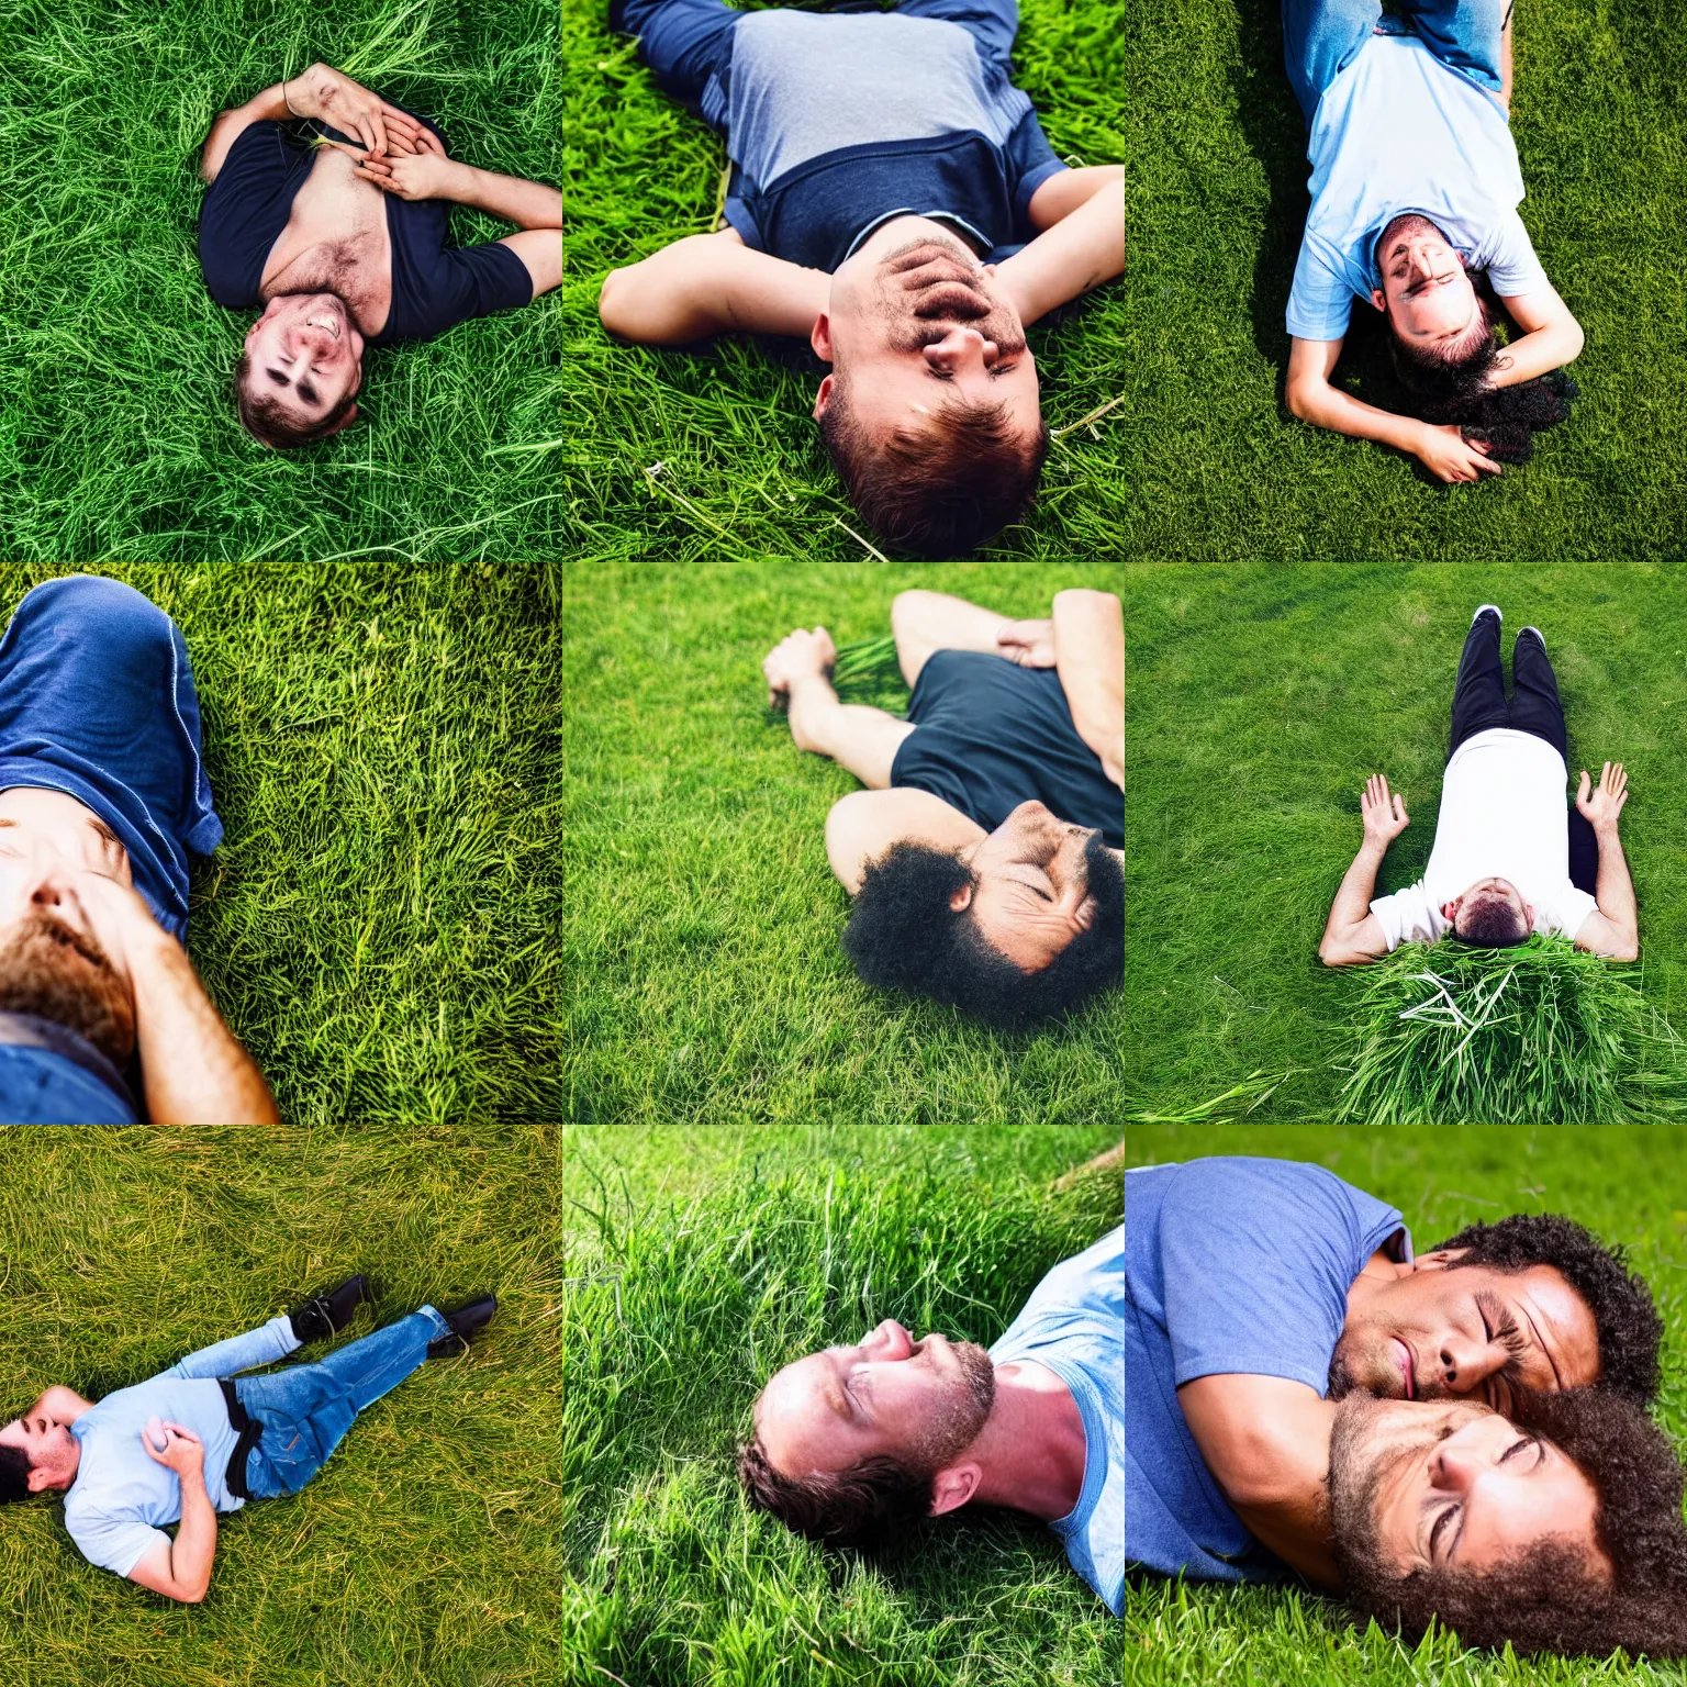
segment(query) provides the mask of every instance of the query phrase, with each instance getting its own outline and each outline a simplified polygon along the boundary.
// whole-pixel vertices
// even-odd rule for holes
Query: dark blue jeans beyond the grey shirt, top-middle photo
[[[1019,34],[1019,0],[897,0],[894,10],[960,24],[984,52],[1004,66]],[[638,35],[639,57],[655,73],[661,91],[688,105],[722,133],[727,127],[732,30],[742,15],[725,0],[611,0],[609,7],[611,27]]]

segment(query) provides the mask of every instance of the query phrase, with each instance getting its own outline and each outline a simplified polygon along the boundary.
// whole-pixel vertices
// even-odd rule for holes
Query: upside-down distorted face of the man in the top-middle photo
[[[995,267],[924,218],[896,218],[837,268],[813,348],[833,366],[815,398],[817,422],[838,380],[870,437],[923,432],[957,398],[1004,405],[1027,445],[1043,420],[1036,359]]]

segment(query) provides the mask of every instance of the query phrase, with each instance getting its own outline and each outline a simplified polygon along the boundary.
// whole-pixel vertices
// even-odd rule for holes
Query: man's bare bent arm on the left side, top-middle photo
[[[830,290],[825,270],[752,251],[729,228],[687,234],[611,270],[597,314],[611,334],[641,346],[685,346],[729,332],[806,339]]]

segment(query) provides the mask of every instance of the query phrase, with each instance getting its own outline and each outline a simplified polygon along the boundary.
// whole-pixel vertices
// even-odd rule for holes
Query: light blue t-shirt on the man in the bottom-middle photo
[[[1054,1372],[1083,1414],[1085,1466],[1078,1503],[1049,1523],[1071,1567],[1125,1613],[1125,1230],[1061,1260],[1032,1291],[990,1358],[1032,1360]]]

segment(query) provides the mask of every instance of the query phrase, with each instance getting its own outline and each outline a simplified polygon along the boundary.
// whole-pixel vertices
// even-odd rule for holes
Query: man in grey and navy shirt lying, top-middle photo
[[[1012,84],[1016,0],[737,12],[611,0],[661,88],[727,137],[727,228],[604,282],[648,346],[790,334],[850,501],[923,557],[1031,503],[1048,428],[1026,326],[1125,267],[1125,172],[1068,169]]]

